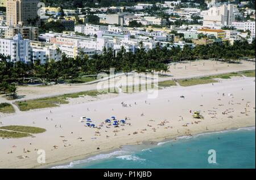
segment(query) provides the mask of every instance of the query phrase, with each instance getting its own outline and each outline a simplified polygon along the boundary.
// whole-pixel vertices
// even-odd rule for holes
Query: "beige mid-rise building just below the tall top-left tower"
[[[5,38],[13,38],[20,33],[23,39],[38,41],[37,27],[10,27],[5,31]]]

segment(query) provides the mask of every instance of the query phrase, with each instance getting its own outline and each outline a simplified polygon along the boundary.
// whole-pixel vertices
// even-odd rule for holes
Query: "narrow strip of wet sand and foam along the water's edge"
[[[240,128],[255,128],[255,126],[245,126],[245,127],[230,127],[230,128],[227,128],[226,130],[218,130],[218,131],[202,131],[202,132],[199,132],[198,134],[193,134],[192,136],[189,136],[191,138],[193,138],[194,136],[201,136],[201,135],[209,135],[209,134],[213,134],[213,133],[221,133],[221,132],[230,132],[230,131],[236,131],[236,130],[240,130]],[[168,142],[171,142],[171,141],[176,141],[176,140],[179,140],[181,139],[182,137],[187,137],[186,135],[178,135],[178,136],[169,136],[167,138],[163,138],[163,137],[159,137],[159,138],[156,138],[155,141],[151,141],[151,140],[146,140],[145,142],[154,142],[154,144],[152,144],[152,146],[150,146],[150,144],[147,144],[145,142],[139,142],[139,144],[126,144],[125,146],[137,146],[137,145],[145,145],[147,146],[148,148],[154,148],[156,147],[157,145],[159,145],[159,143],[168,143]],[[159,139],[162,139],[162,140],[159,140]],[[155,144],[156,143],[156,144]],[[143,148],[139,147],[139,148],[136,148],[137,151],[138,150],[141,150]],[[53,162],[49,165],[46,165],[46,166],[41,166],[40,168],[39,167],[36,167],[36,169],[66,169],[66,168],[62,168],[63,166],[70,166],[71,163],[73,162],[77,162],[77,161],[86,161],[88,160],[88,158],[90,157],[95,157],[97,155],[108,155],[108,154],[112,154],[114,152],[117,152],[117,151],[121,151],[121,149],[119,148],[114,148],[114,149],[109,149],[109,150],[102,150],[102,152],[98,152],[98,153],[92,153],[91,155],[84,155],[83,158],[77,158],[75,157],[72,161],[68,161],[69,164],[67,164],[67,161],[66,160],[60,160],[60,162]],[[80,155],[79,157],[81,157],[82,155]],[[114,156],[114,155],[113,155]],[[110,156],[112,157],[112,156]],[[109,158],[110,158],[109,157]],[[102,158],[103,159],[103,158]],[[78,163],[80,164],[80,163]]]

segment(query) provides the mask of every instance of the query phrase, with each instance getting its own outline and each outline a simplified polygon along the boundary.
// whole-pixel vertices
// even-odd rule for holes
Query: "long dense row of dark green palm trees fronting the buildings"
[[[22,84],[28,78],[45,81],[62,79],[75,80],[82,75],[96,75],[98,72],[108,72],[111,67],[115,72],[166,72],[168,63],[178,61],[192,61],[195,59],[213,58],[216,60],[237,62],[243,57],[255,58],[255,40],[252,44],[247,41],[236,41],[233,45],[223,44],[197,45],[191,49],[189,46],[172,47],[157,44],[156,48],[146,52],[143,43],[135,52],[126,52],[122,46],[114,53],[113,49],[104,49],[102,54],[95,54],[92,58],[80,53],[76,58],[69,58],[61,54],[61,61],[49,60],[44,64],[40,61],[32,63],[11,62],[10,57],[0,54],[0,82]]]

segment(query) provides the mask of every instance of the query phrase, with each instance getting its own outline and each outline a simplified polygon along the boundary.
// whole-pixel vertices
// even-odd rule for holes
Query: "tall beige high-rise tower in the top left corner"
[[[6,22],[7,25],[38,24],[39,0],[6,0]]]

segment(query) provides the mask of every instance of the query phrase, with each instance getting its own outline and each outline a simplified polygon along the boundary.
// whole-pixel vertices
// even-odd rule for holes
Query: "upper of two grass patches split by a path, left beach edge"
[[[45,132],[46,129],[40,127],[31,127],[31,126],[3,126],[0,127],[3,130],[11,130],[11,131],[18,131],[18,132],[27,132],[31,134],[38,134]]]

